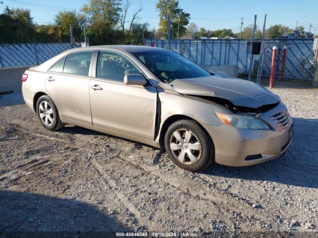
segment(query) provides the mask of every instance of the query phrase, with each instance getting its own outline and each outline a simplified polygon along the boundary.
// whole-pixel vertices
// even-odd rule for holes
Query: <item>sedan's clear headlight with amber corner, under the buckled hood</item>
[[[261,119],[249,114],[226,114],[215,113],[217,117],[226,125],[231,125],[242,129],[266,130],[270,127]]]

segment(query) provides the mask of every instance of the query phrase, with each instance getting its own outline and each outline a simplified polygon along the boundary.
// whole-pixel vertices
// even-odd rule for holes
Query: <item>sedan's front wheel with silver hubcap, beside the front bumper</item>
[[[203,170],[214,161],[213,142],[194,120],[172,123],[165,133],[164,147],[171,161],[188,171]]]

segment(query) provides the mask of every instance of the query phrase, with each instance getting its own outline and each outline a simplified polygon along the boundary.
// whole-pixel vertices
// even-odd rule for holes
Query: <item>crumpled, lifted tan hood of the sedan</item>
[[[262,86],[238,78],[218,77],[217,75],[176,79],[170,83],[175,91],[195,96],[210,96],[227,99],[235,106],[259,108],[275,104],[280,98]]]

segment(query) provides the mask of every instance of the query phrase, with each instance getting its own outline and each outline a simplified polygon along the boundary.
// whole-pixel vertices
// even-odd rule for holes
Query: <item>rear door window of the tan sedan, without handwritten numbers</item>
[[[63,72],[88,76],[92,55],[92,52],[87,51],[68,55],[65,60]]]

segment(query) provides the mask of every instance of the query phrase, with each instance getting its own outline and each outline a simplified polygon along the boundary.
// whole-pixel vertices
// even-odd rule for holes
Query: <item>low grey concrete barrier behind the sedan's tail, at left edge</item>
[[[22,74],[30,66],[0,68],[0,93],[6,91],[21,91]]]

